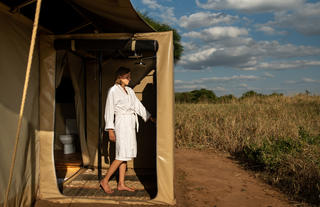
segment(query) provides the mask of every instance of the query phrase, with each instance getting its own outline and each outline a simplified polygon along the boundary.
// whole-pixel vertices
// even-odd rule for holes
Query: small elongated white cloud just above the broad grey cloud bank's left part
[[[201,32],[188,32],[183,34],[185,37],[199,38],[204,41],[215,41],[226,38],[236,38],[248,35],[248,31],[238,27],[211,27]]]

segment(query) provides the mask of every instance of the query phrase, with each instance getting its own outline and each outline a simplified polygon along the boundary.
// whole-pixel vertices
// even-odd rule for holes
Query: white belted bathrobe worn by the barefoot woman
[[[138,131],[138,115],[144,121],[150,117],[130,87],[126,91],[115,84],[109,89],[105,107],[105,130],[114,129],[116,135],[116,160],[128,161],[137,156],[135,126]]]

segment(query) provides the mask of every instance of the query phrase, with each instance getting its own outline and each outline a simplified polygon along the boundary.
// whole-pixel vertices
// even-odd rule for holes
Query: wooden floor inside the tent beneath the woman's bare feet
[[[126,185],[136,189],[135,192],[116,190],[115,175],[109,182],[114,193],[106,194],[99,186],[97,170],[82,167],[80,153],[64,155],[62,151],[55,151],[55,166],[59,189],[66,196],[143,201],[154,198],[157,193],[156,174],[150,170],[127,170]],[[106,172],[102,169],[102,175]]]

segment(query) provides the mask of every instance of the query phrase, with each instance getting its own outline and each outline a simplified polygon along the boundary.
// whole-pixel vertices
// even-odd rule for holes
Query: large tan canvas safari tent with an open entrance
[[[0,28],[0,205],[175,204],[172,32],[154,32],[129,0],[1,0]],[[140,124],[138,158],[129,164],[154,170],[156,195],[144,201],[66,196],[55,169],[65,114],[73,111],[76,120],[82,167],[101,173],[97,168],[108,166],[103,108],[119,66],[131,68],[131,86],[157,117],[156,125]],[[62,87],[66,80],[71,92]]]

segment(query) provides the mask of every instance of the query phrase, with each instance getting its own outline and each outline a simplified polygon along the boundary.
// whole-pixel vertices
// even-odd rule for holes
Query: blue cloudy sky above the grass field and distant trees
[[[131,0],[177,29],[175,91],[320,94],[320,1]]]

